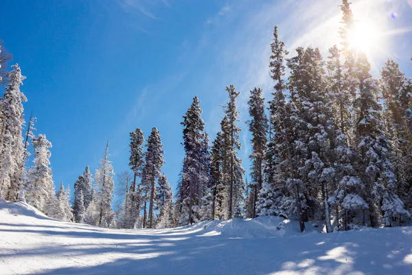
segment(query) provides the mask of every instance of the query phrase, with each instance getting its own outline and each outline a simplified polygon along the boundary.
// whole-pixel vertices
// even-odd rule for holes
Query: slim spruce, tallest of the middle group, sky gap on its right
[[[227,195],[227,219],[233,217],[233,210],[238,203],[237,196],[240,196],[241,192],[244,192],[244,169],[242,168],[242,163],[238,157],[238,150],[241,148],[239,133],[240,127],[236,124],[239,122],[238,107],[236,105],[236,98],[239,96],[239,92],[236,91],[233,85],[226,87],[226,91],[229,94],[229,102],[225,106],[225,118],[227,122],[222,125],[223,138],[225,138],[225,146],[222,150],[225,151],[225,162],[227,162],[227,178],[228,182],[228,195]],[[224,119],[225,119],[224,118]],[[223,121],[222,121],[223,123]],[[240,187],[243,185],[243,190]]]

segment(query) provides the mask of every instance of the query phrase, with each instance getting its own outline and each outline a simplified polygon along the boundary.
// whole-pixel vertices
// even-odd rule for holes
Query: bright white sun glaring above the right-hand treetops
[[[378,28],[371,22],[358,21],[350,33],[350,47],[361,52],[370,53],[378,46]]]

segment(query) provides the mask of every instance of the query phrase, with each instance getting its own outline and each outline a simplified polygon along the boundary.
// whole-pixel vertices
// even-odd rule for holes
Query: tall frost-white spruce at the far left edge
[[[20,91],[24,76],[19,65],[8,74],[9,85],[0,100],[0,197],[15,201],[21,187],[24,168],[22,129],[23,104],[27,101]]]

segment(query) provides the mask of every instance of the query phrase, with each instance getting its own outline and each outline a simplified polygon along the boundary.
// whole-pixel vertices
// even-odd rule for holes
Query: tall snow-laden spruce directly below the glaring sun
[[[330,131],[330,144],[333,147],[336,186],[328,200],[334,206],[336,212],[336,225],[338,228],[348,229],[348,223],[352,223],[352,216],[363,210],[366,206],[361,198],[364,185],[354,169],[356,153],[350,146],[348,137],[353,135],[351,89],[345,80],[347,68],[341,65],[340,53],[336,45],[329,50],[328,56],[328,100],[333,111],[334,132]],[[342,224],[340,223],[342,221]]]

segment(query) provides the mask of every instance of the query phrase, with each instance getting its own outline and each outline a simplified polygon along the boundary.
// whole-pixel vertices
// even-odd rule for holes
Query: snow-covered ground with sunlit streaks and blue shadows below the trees
[[[412,228],[322,234],[283,219],[110,230],[0,201],[0,274],[412,274]]]

